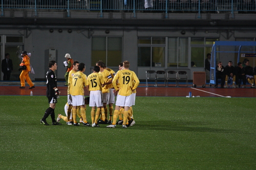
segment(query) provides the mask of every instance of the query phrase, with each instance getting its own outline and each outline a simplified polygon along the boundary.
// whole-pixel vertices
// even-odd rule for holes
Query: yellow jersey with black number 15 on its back
[[[103,78],[101,74],[98,72],[93,72],[91,75],[87,77],[86,85],[89,86],[89,91],[102,91],[101,85],[103,84]]]

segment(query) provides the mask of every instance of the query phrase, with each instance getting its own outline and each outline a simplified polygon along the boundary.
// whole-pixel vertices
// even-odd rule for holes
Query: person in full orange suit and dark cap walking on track
[[[27,52],[23,51],[22,52],[22,63],[20,63],[20,66],[26,65],[26,69],[22,70],[22,73],[19,75],[19,79],[20,79],[20,84],[21,86],[19,88],[25,88],[25,79],[27,81],[27,83],[29,84],[29,89],[35,88],[34,84],[32,83],[32,81],[30,80],[29,77],[29,71],[30,71],[30,58],[27,56]]]

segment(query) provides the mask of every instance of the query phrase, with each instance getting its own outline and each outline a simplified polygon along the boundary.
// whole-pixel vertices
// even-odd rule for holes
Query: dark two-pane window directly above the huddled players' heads
[[[118,66],[122,62],[121,37],[92,37],[92,63],[102,60],[106,66]]]

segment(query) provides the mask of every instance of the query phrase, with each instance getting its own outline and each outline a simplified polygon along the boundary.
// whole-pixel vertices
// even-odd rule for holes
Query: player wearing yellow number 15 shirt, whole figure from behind
[[[89,106],[92,107],[91,118],[92,127],[99,127],[97,120],[100,115],[100,110],[102,107],[102,84],[104,84],[102,74],[99,74],[99,66],[94,66],[93,73],[88,76],[86,88],[90,93],[90,103]],[[95,113],[95,109],[97,111]]]

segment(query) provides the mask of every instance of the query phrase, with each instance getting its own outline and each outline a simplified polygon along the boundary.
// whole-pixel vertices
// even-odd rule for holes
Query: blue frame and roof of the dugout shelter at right
[[[210,83],[216,84],[217,57],[221,53],[238,53],[240,57],[256,57],[256,41],[215,41],[211,49]]]

